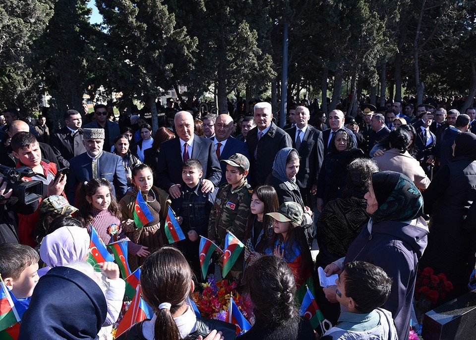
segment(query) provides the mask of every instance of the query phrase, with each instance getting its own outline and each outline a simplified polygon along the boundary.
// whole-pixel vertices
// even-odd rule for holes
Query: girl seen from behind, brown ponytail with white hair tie
[[[165,246],[149,255],[141,267],[140,283],[154,317],[133,325],[117,340],[194,340],[211,336],[214,329],[222,332],[222,339],[235,339],[235,325],[197,319],[186,303],[195,285],[192,270],[177,248]]]

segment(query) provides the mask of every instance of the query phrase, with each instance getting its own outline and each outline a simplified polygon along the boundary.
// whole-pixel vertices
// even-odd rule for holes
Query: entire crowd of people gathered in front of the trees
[[[150,103],[119,119],[102,104],[68,110],[55,132],[44,115],[32,126],[5,109],[0,275],[28,308],[18,339],[112,339],[125,278],[113,262],[100,273],[85,262],[93,230],[127,242],[154,310],[118,339],[234,339],[233,325],[187,304],[204,283],[200,237],[223,249],[227,233],[245,248],[224,279],[254,306],[239,339],[408,339],[419,270],[453,284],[445,303],[468,291],[475,266],[476,109],[425,103],[362,98],[353,117],[303,99],[280,128],[268,102],[246,114],[239,98],[216,115],[169,99],[157,131]],[[17,197],[12,173],[40,183],[41,197]],[[171,245],[170,208],[185,235]],[[318,267],[335,285],[319,286]],[[332,327],[299,316],[306,291]]]

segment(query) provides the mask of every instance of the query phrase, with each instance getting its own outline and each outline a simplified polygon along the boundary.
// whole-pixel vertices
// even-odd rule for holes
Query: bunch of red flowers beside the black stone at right
[[[419,272],[419,271],[418,271]],[[453,283],[446,279],[443,273],[436,275],[430,267],[426,267],[419,276],[415,284],[415,298],[417,300],[426,299],[432,305],[436,305],[438,299],[445,298],[446,293],[453,289]]]

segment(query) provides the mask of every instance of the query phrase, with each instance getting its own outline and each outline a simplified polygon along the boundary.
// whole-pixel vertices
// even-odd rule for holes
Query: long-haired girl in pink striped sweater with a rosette
[[[131,242],[122,231],[119,204],[107,179],[91,179],[80,184],[76,197],[80,197],[78,217],[89,233],[92,226],[106,245],[126,239],[129,253],[137,256],[149,254],[147,247]]]

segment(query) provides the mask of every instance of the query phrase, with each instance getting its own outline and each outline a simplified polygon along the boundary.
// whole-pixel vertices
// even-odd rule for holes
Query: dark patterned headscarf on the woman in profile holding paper
[[[373,223],[404,222],[423,213],[423,198],[413,181],[395,171],[379,171],[372,175],[372,187],[378,209],[371,214]]]

